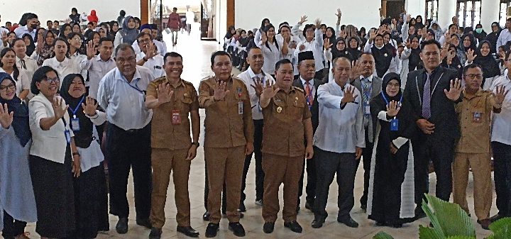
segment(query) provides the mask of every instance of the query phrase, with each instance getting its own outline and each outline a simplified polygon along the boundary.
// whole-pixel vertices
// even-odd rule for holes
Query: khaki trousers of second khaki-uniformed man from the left
[[[237,223],[241,198],[241,177],[245,165],[245,145],[231,148],[204,147],[204,160],[208,172],[209,195],[208,211],[211,213],[209,222],[219,223],[221,219],[221,193],[226,186],[227,218]]]

